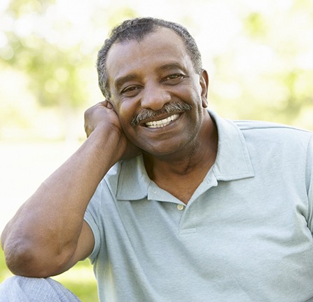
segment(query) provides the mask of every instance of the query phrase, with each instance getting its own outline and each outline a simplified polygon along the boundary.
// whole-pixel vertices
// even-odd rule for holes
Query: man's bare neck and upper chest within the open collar
[[[217,145],[216,125],[209,118],[195,141],[185,149],[164,157],[145,153],[144,164],[148,176],[160,188],[188,203],[195,189],[214,164]]]

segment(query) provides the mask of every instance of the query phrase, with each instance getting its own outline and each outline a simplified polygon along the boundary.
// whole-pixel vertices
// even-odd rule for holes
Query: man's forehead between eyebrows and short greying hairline
[[[106,57],[109,85],[120,76],[151,71],[165,64],[192,66],[183,39],[172,29],[160,27],[140,42],[114,43]]]

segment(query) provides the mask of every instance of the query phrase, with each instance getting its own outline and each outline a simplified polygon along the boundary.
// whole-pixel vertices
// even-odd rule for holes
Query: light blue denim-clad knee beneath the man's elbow
[[[0,284],[0,302],[80,302],[51,278],[13,276]]]

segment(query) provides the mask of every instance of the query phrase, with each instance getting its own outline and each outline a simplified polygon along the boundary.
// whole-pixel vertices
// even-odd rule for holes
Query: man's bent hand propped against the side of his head
[[[118,150],[120,151],[120,159],[131,158],[141,153],[141,150],[125,136],[118,115],[108,101],[99,102],[85,111],[85,132],[87,137],[96,128],[102,128],[103,131],[110,129],[110,131],[118,132],[118,135],[120,135],[119,146],[122,146],[122,149]]]

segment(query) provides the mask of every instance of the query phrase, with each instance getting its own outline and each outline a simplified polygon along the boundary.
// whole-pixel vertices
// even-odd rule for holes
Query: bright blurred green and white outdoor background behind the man
[[[313,130],[312,0],[1,0],[0,232],[85,139],[83,112],[102,101],[97,50],[137,16],[189,29],[221,116]],[[1,251],[0,282],[9,275]],[[57,280],[97,301],[88,261]]]

